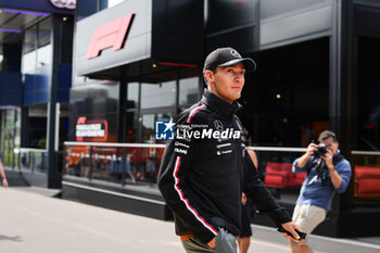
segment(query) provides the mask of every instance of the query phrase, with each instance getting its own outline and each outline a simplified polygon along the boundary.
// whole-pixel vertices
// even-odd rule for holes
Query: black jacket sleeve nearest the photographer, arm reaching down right
[[[261,213],[268,215],[277,226],[291,222],[288,212],[278,205],[275,198],[259,180],[256,169],[253,168],[253,162],[245,150],[243,172],[243,191],[245,195],[252,200]]]

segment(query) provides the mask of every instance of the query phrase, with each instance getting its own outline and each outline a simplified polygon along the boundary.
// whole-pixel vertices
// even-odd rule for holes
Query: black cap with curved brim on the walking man
[[[256,69],[256,63],[251,58],[242,58],[233,48],[218,48],[207,55],[203,72],[215,71],[218,66],[230,66],[238,62],[244,64],[246,72]]]

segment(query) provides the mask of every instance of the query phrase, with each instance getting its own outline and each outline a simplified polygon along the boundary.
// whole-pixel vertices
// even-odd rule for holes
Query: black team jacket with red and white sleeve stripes
[[[175,118],[175,137],[165,149],[159,188],[173,211],[178,236],[193,235],[203,243],[219,227],[235,236],[241,227],[241,193],[279,226],[291,222],[258,179],[230,104],[210,91]]]

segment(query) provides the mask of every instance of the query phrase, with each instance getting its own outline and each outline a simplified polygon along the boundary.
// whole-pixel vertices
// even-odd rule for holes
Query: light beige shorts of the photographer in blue
[[[296,223],[302,231],[306,232],[306,239],[302,244],[307,244],[308,236],[326,218],[326,210],[316,205],[296,204],[293,212],[293,222]]]

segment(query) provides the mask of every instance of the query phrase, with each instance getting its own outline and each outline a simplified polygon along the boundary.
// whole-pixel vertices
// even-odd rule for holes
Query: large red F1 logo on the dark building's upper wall
[[[123,45],[135,14],[122,16],[105,25],[99,26],[92,34],[90,46],[86,53],[86,59],[97,58],[106,48],[119,50]]]

